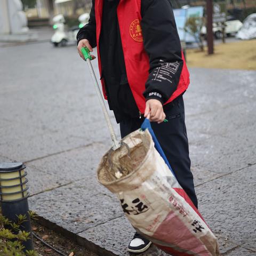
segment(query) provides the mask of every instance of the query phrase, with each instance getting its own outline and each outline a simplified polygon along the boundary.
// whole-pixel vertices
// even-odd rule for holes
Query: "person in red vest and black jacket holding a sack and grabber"
[[[148,118],[180,185],[197,207],[182,98],[189,73],[171,0],[93,0],[89,23],[79,30],[77,42],[81,58],[82,47],[92,52],[97,46],[102,90],[122,138]],[[150,244],[135,233],[128,251],[141,253]]]

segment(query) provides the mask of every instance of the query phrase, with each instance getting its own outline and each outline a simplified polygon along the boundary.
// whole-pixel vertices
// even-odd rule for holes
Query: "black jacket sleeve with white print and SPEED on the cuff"
[[[141,1],[143,43],[149,55],[146,100],[165,103],[177,89],[183,61],[181,44],[169,0]]]

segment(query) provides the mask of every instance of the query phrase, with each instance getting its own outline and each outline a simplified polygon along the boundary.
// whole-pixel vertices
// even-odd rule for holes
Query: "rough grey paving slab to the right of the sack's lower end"
[[[199,211],[213,232],[243,244],[255,238],[255,165],[196,187]]]

